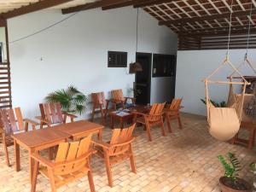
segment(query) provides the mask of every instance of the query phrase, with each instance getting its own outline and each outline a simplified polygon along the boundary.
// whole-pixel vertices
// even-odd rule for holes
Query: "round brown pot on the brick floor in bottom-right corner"
[[[251,192],[250,184],[239,177],[237,177],[236,185],[229,177],[220,177],[219,183],[222,192]]]

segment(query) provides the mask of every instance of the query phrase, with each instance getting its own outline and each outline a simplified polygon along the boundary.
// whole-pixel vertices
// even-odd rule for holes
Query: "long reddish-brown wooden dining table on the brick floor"
[[[13,135],[15,143],[15,170],[20,171],[20,146],[29,152],[29,174],[32,181],[33,160],[31,154],[51,148],[59,143],[67,142],[68,139],[77,140],[89,134],[98,134],[98,139],[102,139],[102,125],[86,120],[75,121],[63,125],[28,131]]]

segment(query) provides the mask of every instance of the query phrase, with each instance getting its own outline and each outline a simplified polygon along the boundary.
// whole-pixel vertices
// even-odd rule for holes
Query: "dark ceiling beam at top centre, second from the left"
[[[130,3],[132,0],[101,0],[94,3],[85,3],[82,5],[78,5],[75,7],[67,8],[67,9],[61,9],[62,14],[71,14],[73,12],[78,12],[82,10],[88,10],[88,9],[96,9],[96,8],[104,8],[104,7],[111,7],[113,6],[119,6],[124,3]],[[131,5],[131,4],[129,4]],[[125,5],[125,6],[129,6]]]

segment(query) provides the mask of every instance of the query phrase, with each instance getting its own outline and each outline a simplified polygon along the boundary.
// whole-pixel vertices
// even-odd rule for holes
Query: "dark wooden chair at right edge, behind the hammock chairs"
[[[235,144],[235,143],[245,144],[245,145],[247,145],[248,149],[252,149],[253,145],[255,143],[256,124],[253,124],[253,122],[241,121],[240,130],[247,131],[249,133],[248,138],[245,139],[245,138],[239,137],[238,134],[240,131],[238,131],[238,133],[236,133],[236,136],[233,137],[233,139],[231,140],[231,143],[232,144]]]

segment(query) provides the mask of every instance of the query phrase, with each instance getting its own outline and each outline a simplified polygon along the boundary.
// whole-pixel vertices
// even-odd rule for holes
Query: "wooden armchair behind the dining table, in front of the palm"
[[[61,103],[59,102],[40,103],[39,108],[41,116],[37,116],[36,118],[41,122],[40,129],[42,129],[44,125],[50,127],[55,124],[65,124],[67,116],[70,117],[72,122],[74,118],[77,118],[74,114],[62,112]]]

